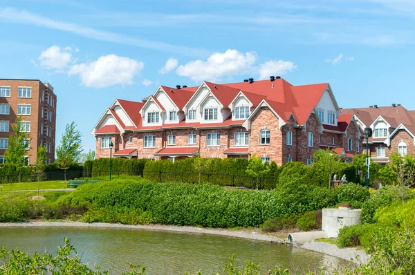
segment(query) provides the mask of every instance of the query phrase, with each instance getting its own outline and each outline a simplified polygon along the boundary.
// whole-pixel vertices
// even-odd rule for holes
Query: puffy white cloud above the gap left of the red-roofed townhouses
[[[116,84],[132,84],[133,78],[140,75],[144,63],[129,57],[105,55],[96,61],[71,66],[69,75],[79,75],[82,85],[105,88]]]

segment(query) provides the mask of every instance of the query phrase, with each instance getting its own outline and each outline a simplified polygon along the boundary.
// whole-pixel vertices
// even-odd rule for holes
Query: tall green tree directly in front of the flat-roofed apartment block
[[[10,133],[8,139],[8,149],[4,152],[4,160],[9,164],[16,165],[16,171],[19,173],[25,164],[25,156],[30,150],[30,134],[26,132],[24,124],[21,123],[21,115],[17,117],[15,124],[12,125],[13,133]]]

